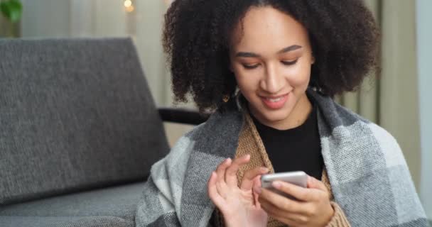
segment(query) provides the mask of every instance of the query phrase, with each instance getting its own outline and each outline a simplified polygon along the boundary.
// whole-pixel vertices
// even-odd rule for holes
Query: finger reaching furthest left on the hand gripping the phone
[[[280,194],[271,192],[269,189],[261,189],[259,202],[262,203],[262,201],[267,201],[284,212],[295,214],[305,214],[307,212],[305,203],[288,199],[286,196],[281,196]]]

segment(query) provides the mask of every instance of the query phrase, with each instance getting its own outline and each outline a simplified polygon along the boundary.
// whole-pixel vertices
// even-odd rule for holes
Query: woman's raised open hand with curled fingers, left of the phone
[[[250,155],[244,155],[234,161],[225,160],[212,172],[207,185],[210,199],[222,212],[228,227],[267,224],[267,214],[261,209],[258,194],[254,194],[252,188],[255,185],[260,187],[260,175],[269,170],[264,167],[249,170],[244,173],[240,187],[237,185],[237,171],[249,159]]]

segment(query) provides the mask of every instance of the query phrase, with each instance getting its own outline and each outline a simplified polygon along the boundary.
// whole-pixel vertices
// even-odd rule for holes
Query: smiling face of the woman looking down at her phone
[[[240,92],[258,121],[278,129],[306,121],[314,60],[301,23],[271,6],[252,7],[234,28],[229,57]]]

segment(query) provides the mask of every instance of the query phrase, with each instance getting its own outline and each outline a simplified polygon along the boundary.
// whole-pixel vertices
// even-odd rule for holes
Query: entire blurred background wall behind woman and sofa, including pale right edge
[[[161,46],[171,0],[23,0],[25,38],[130,36],[158,106],[172,106]],[[430,0],[365,0],[382,30],[381,67],[338,101],[394,135],[432,218],[432,40]],[[380,79],[376,79],[379,76]],[[185,106],[192,107],[193,104]],[[173,144],[190,126],[166,124]]]

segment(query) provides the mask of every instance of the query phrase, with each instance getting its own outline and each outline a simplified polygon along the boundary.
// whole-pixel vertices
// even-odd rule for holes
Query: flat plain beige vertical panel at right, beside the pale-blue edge
[[[384,0],[382,4],[380,124],[398,140],[419,190],[421,153],[415,4],[405,0]]]

